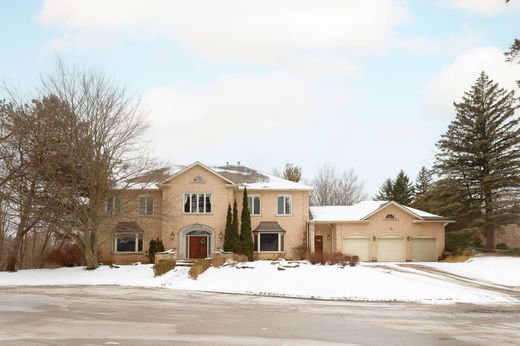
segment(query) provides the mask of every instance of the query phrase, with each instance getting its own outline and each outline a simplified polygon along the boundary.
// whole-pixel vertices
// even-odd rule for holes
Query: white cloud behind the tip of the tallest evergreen
[[[453,113],[453,102],[459,102],[477,80],[480,72],[486,73],[501,87],[516,89],[520,80],[520,66],[505,62],[504,52],[495,47],[467,50],[443,68],[426,88],[427,104],[434,111]]]

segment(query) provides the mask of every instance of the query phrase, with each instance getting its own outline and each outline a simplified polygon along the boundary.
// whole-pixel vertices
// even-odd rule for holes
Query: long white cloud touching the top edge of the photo
[[[46,0],[38,18],[74,33],[166,37],[216,61],[273,64],[316,50],[377,51],[410,15],[400,0]]]

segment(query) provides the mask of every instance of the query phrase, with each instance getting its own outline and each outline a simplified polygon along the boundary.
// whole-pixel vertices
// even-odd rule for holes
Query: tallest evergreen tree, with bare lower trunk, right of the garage
[[[467,196],[475,220],[494,248],[494,226],[503,222],[518,200],[520,186],[520,126],[518,100],[482,72],[462,102],[456,117],[437,143],[436,168]],[[455,193],[455,191],[454,191]]]

